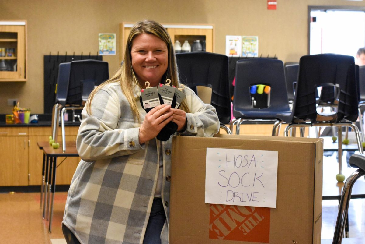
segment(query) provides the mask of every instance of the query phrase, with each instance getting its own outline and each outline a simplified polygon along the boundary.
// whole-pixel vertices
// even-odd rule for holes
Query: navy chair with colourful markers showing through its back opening
[[[236,82],[233,98],[233,116],[230,129],[236,126],[239,134],[239,125],[244,121],[275,121],[277,114],[290,113],[287,88],[284,76],[284,64],[281,60],[269,58],[250,58],[237,61]],[[269,106],[255,108],[250,96],[253,85],[270,86]],[[273,134],[276,136],[277,133]]]

